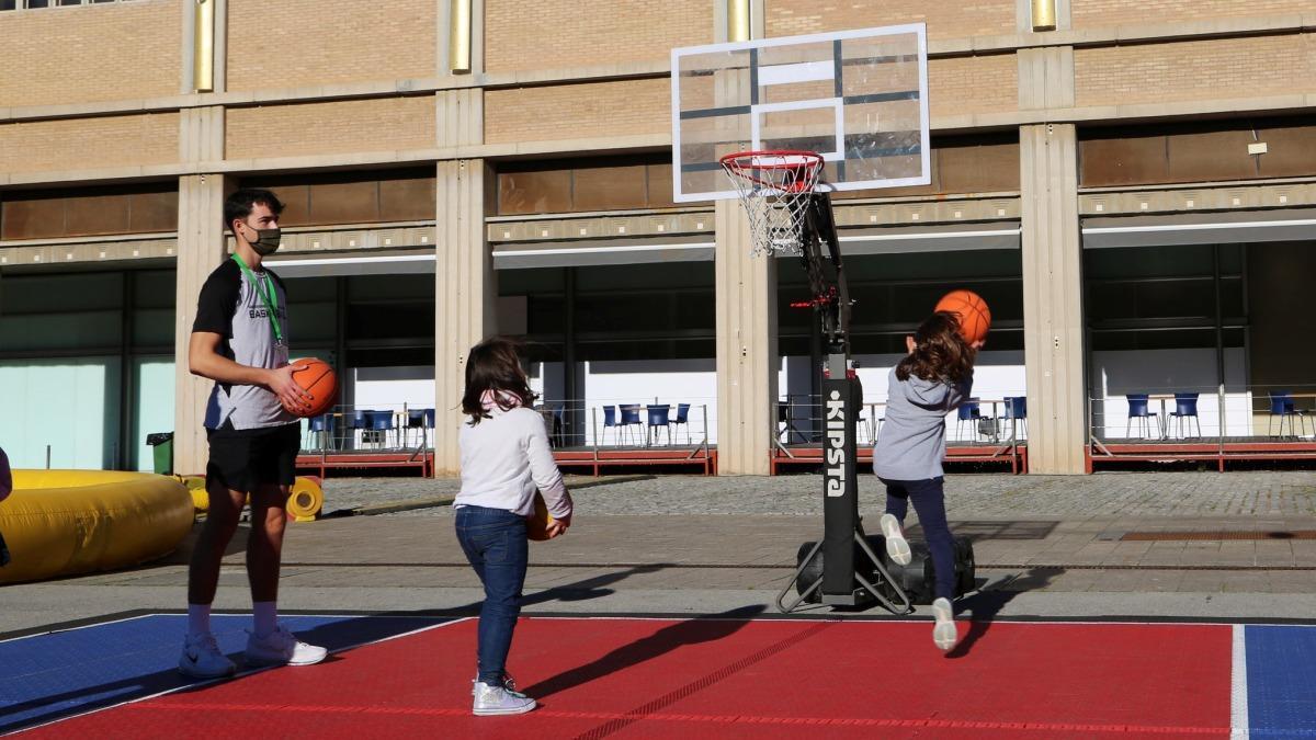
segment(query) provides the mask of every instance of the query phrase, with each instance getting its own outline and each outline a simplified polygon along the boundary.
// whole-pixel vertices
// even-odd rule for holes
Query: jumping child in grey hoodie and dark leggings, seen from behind
[[[942,650],[955,645],[951,600],[955,598],[955,552],[946,524],[941,460],[946,456],[946,415],[969,398],[974,384],[974,358],[982,341],[969,344],[959,334],[954,313],[937,312],[905,337],[909,354],[887,379],[886,424],[873,449],[873,471],[887,486],[887,512],[882,535],[887,554],[900,565],[911,561],[904,539],[904,517],[913,502],[936,569],[936,618],[932,639]]]

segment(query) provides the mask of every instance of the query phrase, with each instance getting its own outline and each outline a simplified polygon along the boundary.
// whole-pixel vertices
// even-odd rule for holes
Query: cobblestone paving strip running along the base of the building
[[[569,477],[584,515],[821,515],[817,475]],[[600,485],[603,483],[603,485]],[[455,495],[455,479],[330,478],[325,511]],[[880,514],[882,485],[859,478],[859,503]],[[951,475],[950,516],[1087,519],[1091,516],[1316,516],[1316,473],[1101,473],[1098,475]],[[401,512],[450,516],[446,507]]]

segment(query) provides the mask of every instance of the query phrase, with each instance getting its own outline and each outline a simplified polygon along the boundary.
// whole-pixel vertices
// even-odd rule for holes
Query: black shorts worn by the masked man
[[[261,483],[291,486],[296,479],[297,450],[301,449],[301,425],[284,424],[262,429],[234,429],[225,421],[218,429],[207,429],[211,461],[205,466],[205,483],[250,494]]]

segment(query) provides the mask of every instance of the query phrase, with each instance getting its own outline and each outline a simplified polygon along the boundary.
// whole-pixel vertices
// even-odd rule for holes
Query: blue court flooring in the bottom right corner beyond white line
[[[1316,627],[1249,625],[1253,737],[1316,737]]]

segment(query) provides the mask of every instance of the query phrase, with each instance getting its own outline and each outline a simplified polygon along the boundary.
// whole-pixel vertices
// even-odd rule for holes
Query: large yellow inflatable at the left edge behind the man
[[[176,478],[103,470],[14,470],[0,502],[13,562],[0,583],[137,565],[192,528],[192,498]]]

